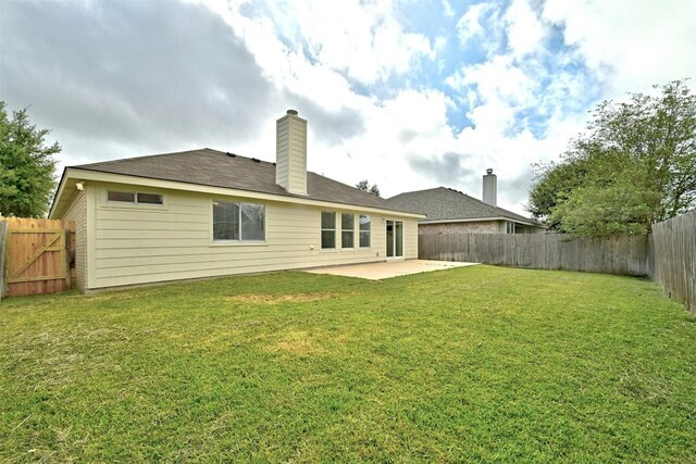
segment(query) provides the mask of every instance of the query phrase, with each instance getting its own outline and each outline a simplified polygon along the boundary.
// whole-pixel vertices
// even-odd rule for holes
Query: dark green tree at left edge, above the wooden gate
[[[41,217],[55,187],[58,142],[46,146],[48,129],[29,122],[27,109],[10,118],[0,101],[0,212],[5,216]]]

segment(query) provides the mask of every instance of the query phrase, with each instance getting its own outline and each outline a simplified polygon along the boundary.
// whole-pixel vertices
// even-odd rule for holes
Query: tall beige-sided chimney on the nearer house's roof
[[[275,128],[275,183],[289,193],[307,195],[307,121],[288,110]]]

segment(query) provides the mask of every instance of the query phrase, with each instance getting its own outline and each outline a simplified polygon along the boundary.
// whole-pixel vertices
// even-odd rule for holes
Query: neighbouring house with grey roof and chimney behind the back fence
[[[444,233],[537,234],[543,224],[497,206],[497,178],[493,170],[483,176],[483,201],[451,188],[410,191],[387,199],[402,211],[425,214],[419,221],[419,235]]]

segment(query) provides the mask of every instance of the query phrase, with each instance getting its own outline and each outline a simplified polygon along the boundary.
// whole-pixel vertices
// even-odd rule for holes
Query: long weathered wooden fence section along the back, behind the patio
[[[645,276],[651,274],[649,236],[606,239],[561,234],[428,234],[419,236],[422,260],[535,269]]]

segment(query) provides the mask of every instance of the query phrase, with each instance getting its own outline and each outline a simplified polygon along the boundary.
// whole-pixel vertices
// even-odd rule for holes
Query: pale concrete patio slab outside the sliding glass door
[[[359,277],[370,280],[407,276],[410,274],[428,273],[432,271],[451,269],[453,267],[473,266],[478,263],[452,263],[449,261],[386,261],[369,264],[349,264],[345,266],[319,267],[308,269],[312,274],[331,274],[344,277]]]

